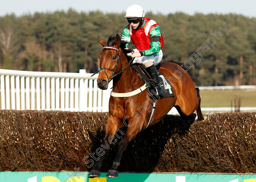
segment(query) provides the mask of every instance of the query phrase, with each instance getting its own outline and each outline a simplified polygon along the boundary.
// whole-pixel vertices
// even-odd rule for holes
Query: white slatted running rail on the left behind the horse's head
[[[101,90],[91,75],[0,69],[0,109],[107,112],[112,82]]]

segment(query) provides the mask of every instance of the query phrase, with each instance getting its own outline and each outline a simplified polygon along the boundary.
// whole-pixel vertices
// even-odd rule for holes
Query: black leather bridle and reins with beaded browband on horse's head
[[[123,69],[123,62],[122,62],[122,60],[121,60],[121,56],[120,56],[120,51],[119,51],[119,49],[116,49],[116,48],[114,48],[114,47],[105,46],[105,47],[102,48],[102,50],[116,50],[116,51],[118,52],[117,62],[116,62],[116,66],[115,66],[114,69],[102,68],[101,65],[100,65],[100,69],[92,75],[92,76],[94,76],[96,73],[103,71],[103,72],[107,75],[107,77],[108,77],[108,74],[105,72],[104,69],[110,70],[110,71],[112,71],[113,73],[112,73],[111,77],[108,78],[108,83],[109,83],[112,78],[114,78],[115,76],[118,76],[118,75],[122,74],[122,73],[124,72],[124,70],[133,62],[133,59],[134,59],[134,58],[133,58],[133,59],[129,62],[129,64]],[[116,69],[117,69],[117,66],[118,66],[119,59],[120,59],[120,62],[121,62],[121,71],[115,74]]]

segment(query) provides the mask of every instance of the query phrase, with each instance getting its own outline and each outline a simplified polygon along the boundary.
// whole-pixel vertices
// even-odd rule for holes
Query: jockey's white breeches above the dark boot
[[[139,52],[138,49],[133,49],[134,52]],[[160,51],[152,56],[141,56],[141,57],[135,57],[133,60],[134,63],[144,64],[147,61],[152,61],[154,65],[157,65],[161,62],[163,57],[163,52],[160,49]]]

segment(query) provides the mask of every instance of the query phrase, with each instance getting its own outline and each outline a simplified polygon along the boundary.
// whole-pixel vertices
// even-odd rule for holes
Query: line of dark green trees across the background
[[[102,49],[98,36],[105,41],[113,33],[121,36],[128,24],[124,14],[69,9],[0,17],[0,68],[95,72]],[[162,62],[188,60],[187,66],[194,69],[201,86],[256,84],[255,18],[182,12],[148,12],[145,17],[160,26],[164,38]]]

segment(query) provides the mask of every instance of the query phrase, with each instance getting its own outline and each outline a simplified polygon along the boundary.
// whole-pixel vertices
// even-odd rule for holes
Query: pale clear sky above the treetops
[[[189,15],[194,13],[217,14],[242,14],[256,18],[256,1],[254,0],[0,0],[0,16],[14,13],[16,16],[34,15],[35,12],[48,12],[72,8],[77,12],[101,11],[103,13],[124,13],[133,4],[140,5],[144,12],[154,14],[184,12]]]

